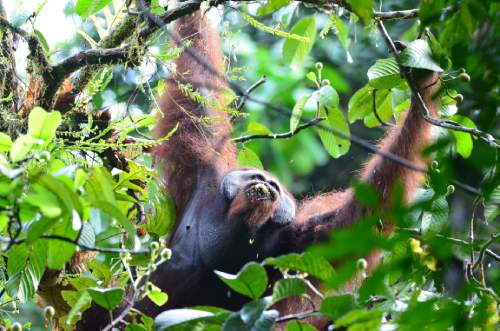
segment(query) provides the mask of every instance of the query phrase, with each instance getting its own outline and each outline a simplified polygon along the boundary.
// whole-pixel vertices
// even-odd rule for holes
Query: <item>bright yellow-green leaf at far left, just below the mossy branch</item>
[[[42,108],[35,107],[28,117],[28,135],[36,139],[42,139],[47,144],[54,139],[61,122],[60,112],[47,113]]]

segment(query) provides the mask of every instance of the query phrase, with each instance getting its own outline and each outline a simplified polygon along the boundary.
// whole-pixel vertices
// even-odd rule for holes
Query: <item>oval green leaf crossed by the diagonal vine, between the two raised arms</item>
[[[321,142],[328,154],[333,158],[341,157],[346,154],[351,147],[349,139],[345,139],[336,134],[340,132],[346,137],[351,135],[349,124],[347,123],[344,114],[338,108],[328,109],[328,114],[324,108],[321,109],[321,116],[327,117],[327,122],[321,122],[326,128],[317,128]]]

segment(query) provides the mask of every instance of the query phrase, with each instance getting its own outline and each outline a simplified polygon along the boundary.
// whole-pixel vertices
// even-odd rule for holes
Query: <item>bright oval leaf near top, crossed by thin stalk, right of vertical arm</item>
[[[309,42],[286,39],[283,44],[283,60],[297,70],[312,50],[316,38],[316,19],[314,16],[304,17],[292,27],[290,33],[309,38]]]

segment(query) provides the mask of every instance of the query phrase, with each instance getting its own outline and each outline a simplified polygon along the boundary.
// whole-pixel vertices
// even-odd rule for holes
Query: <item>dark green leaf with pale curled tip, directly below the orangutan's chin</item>
[[[259,298],[267,287],[266,270],[255,262],[245,264],[236,275],[222,271],[215,271],[215,274],[235,292],[252,299]]]

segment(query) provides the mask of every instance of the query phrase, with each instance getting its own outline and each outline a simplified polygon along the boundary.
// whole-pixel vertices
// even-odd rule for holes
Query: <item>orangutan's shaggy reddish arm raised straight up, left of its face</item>
[[[203,177],[220,177],[234,167],[236,152],[229,139],[231,123],[222,95],[223,55],[218,33],[201,11],[179,18],[174,34],[203,58],[200,63],[189,52],[173,62],[167,87],[160,99],[162,117],[155,132],[158,137],[176,126],[175,134],[154,151],[178,211],[183,211],[203,169]]]

